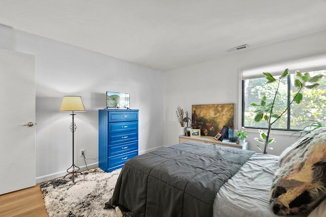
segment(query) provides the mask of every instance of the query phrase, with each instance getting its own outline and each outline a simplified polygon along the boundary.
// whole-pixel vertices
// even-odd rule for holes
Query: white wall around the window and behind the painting
[[[235,126],[241,126],[241,82],[243,68],[268,65],[311,55],[326,53],[326,31],[281,41],[268,46],[228,53],[224,57],[165,72],[164,74],[164,144],[178,143],[178,106],[191,113],[192,105],[235,103]],[[250,44],[249,44],[250,47]],[[274,150],[279,155],[296,137],[291,133],[273,131]],[[250,149],[260,152],[254,142],[257,130],[249,130]]]

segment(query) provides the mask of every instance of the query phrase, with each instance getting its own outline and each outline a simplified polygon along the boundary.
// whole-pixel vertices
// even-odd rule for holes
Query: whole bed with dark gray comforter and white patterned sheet
[[[277,156],[189,141],[126,162],[105,207],[148,217],[275,217],[270,191],[278,168]]]

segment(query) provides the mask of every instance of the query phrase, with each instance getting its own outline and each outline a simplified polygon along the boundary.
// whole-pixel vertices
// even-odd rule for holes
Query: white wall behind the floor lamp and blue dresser
[[[66,174],[72,164],[71,115],[59,112],[66,95],[82,96],[87,109],[75,116],[77,166],[85,168],[80,149],[87,158],[98,157],[98,109],[106,106],[107,90],[129,93],[131,109],[140,110],[140,153],[162,145],[162,72],[4,25],[0,38],[2,48],[35,55],[37,182]],[[87,160],[90,166],[97,162]]]

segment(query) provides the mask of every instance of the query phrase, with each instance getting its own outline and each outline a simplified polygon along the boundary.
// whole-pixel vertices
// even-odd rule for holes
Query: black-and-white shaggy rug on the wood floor
[[[121,169],[106,173],[99,168],[83,171],[65,179],[41,183],[41,192],[49,217],[108,216],[118,217],[114,209],[103,209],[113,195]]]

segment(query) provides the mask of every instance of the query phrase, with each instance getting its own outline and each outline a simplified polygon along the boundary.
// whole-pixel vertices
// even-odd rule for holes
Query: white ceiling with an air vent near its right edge
[[[0,23],[167,71],[320,32],[325,11],[326,0],[0,0]]]

